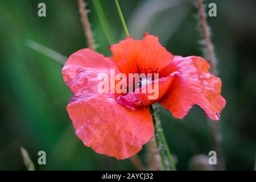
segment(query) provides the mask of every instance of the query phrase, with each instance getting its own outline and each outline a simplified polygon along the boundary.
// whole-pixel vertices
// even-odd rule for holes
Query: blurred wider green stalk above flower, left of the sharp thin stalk
[[[102,10],[100,1],[93,0],[92,2],[93,2],[93,6],[96,10],[96,13],[98,15],[98,18],[100,19],[101,26],[106,35],[106,38],[108,39],[109,44],[115,43],[114,35],[112,34],[112,31],[110,30],[108,20],[106,20],[106,16],[104,14],[104,11]]]

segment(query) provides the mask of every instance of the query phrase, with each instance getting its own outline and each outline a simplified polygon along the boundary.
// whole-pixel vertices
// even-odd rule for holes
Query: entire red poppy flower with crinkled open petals
[[[180,119],[194,104],[210,119],[220,118],[226,104],[220,95],[221,80],[209,73],[209,64],[202,57],[174,56],[149,34],[142,40],[126,38],[110,49],[113,57],[81,49],[69,57],[62,71],[74,93],[67,106],[69,117],[85,146],[117,159],[136,154],[154,134],[148,107],[154,102]],[[110,75],[110,69],[126,75],[159,73],[158,98],[148,100],[148,94],[137,92],[98,93],[98,74]]]

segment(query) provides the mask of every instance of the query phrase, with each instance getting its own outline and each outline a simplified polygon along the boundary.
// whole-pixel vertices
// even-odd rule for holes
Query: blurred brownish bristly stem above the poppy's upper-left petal
[[[93,34],[92,34],[92,30],[90,28],[90,22],[87,16],[87,12],[85,9],[85,3],[84,0],[77,0],[78,5],[79,5],[79,12],[80,12],[80,16],[81,16],[81,22],[82,25],[84,26],[84,32],[85,32],[85,37],[87,39],[88,42],[88,47],[90,49],[92,49],[93,51],[95,51],[95,44],[93,41]]]

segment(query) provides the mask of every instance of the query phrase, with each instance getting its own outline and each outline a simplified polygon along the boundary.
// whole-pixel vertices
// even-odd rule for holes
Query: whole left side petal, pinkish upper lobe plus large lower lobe
[[[115,63],[90,49],[71,55],[63,77],[74,96],[67,106],[76,135],[99,154],[126,159],[141,150],[154,133],[148,107],[135,111],[120,105],[113,93],[98,93],[98,73],[109,75]]]

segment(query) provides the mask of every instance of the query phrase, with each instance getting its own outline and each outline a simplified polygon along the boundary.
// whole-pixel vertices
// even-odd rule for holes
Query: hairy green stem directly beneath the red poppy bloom
[[[156,111],[152,105],[150,105],[150,112],[152,115],[152,119],[154,122],[155,127],[155,138],[156,138],[156,145],[158,146],[159,155],[162,160],[163,168],[164,170],[167,169],[166,161],[167,158],[168,163],[173,171],[176,171],[176,166],[174,164],[174,160],[172,159],[170,149],[168,147],[168,144],[166,142],[166,137],[164,137],[163,129],[160,123],[160,119],[158,118],[158,115],[156,114]]]

